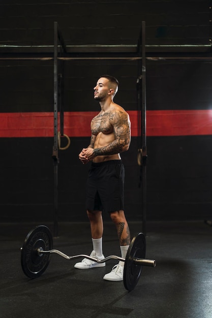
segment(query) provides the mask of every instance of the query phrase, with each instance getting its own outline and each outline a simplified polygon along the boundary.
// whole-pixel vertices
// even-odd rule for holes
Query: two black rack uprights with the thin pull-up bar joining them
[[[58,53],[58,43],[60,44],[60,51]],[[61,98],[63,96],[63,62],[65,60],[138,60],[138,109],[141,115],[139,122],[141,123],[140,131],[140,148],[142,150],[141,164],[141,179],[142,179],[142,226],[143,233],[146,234],[146,67],[145,67],[145,22],[142,22],[141,32],[137,45],[137,56],[61,56],[66,53],[66,45],[63,40],[62,33],[59,31],[57,22],[54,22],[54,145],[52,158],[54,160],[54,236],[58,236],[58,112],[60,113],[60,133],[64,135],[64,110]],[[58,63],[62,62],[62,72],[58,77]],[[60,65],[61,67],[61,65]],[[58,80],[59,79],[59,80]],[[138,86],[137,86],[138,87]],[[58,100],[58,90],[60,93],[60,100]]]

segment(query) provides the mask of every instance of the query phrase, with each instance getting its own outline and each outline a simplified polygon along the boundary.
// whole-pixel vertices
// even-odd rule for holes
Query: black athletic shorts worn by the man
[[[92,163],[86,188],[86,209],[114,212],[124,210],[125,168],[122,160]]]

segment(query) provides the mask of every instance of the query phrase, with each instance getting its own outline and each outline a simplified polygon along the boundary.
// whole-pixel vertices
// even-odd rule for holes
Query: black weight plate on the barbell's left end
[[[44,225],[31,230],[22,246],[21,267],[24,274],[30,278],[39,277],[50,262],[50,253],[39,254],[37,252],[38,248],[43,250],[52,249],[52,235]]]

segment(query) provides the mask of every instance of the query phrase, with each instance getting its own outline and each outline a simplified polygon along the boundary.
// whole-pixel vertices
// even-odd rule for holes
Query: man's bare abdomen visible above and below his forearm
[[[95,144],[94,144],[94,149],[96,148],[101,148],[109,145],[111,142],[113,142],[114,139],[114,134],[103,134],[99,133],[96,137]],[[108,160],[120,160],[120,154],[107,154],[107,155],[98,155],[93,159],[94,163],[100,163],[100,162],[105,162]]]

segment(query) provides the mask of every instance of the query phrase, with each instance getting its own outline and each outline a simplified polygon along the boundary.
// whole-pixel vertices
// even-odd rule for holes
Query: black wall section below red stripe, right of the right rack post
[[[148,139],[148,213],[157,219],[211,218],[211,136]]]

